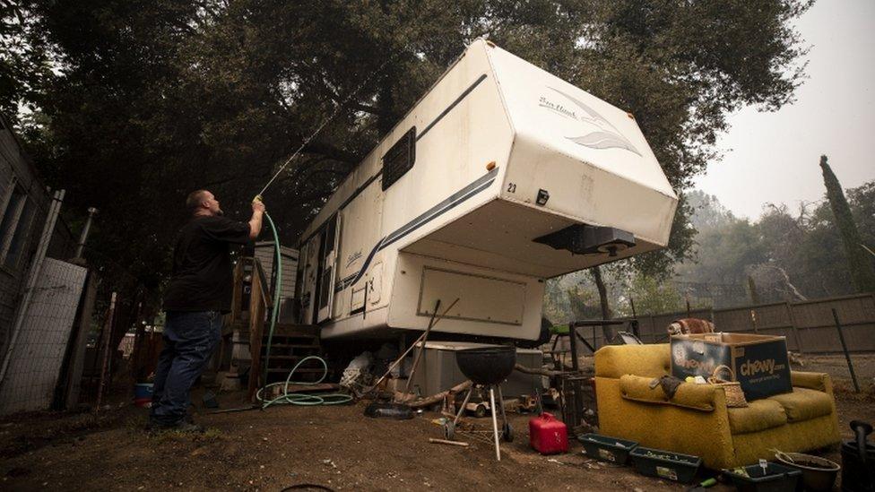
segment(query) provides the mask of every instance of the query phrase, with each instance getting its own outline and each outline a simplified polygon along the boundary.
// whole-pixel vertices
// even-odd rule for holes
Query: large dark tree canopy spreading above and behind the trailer
[[[56,70],[39,91],[4,92],[2,108],[23,97],[39,109],[23,133],[49,184],[66,187],[75,210],[101,209],[92,263],[155,293],[189,191],[208,187],[242,217],[276,166],[362,84],[265,197],[292,244],[342,177],[481,36],[634,113],[682,191],[715,157],[730,111],[792,99],[804,55],[792,21],[810,2],[22,4],[37,38],[30,46],[51,47]],[[35,72],[13,74],[16,87],[27,85],[21,73]],[[680,206],[669,248],[637,269],[664,275],[688,255],[689,213]]]

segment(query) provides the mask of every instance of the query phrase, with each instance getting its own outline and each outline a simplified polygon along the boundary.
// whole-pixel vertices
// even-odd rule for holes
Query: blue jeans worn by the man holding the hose
[[[169,311],[164,349],[155,368],[152,420],[174,425],[186,418],[189,392],[221,338],[218,311]]]

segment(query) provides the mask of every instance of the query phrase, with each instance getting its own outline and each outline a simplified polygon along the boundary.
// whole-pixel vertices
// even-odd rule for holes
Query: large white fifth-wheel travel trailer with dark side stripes
[[[665,246],[677,206],[635,118],[468,47],[300,240],[301,322],[534,340],[544,281]]]

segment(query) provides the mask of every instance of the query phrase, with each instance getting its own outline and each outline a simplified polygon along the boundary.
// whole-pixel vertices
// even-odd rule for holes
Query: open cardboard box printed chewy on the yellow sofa
[[[784,337],[746,333],[697,333],[671,337],[671,374],[710,377],[729,366],[747,400],[790,393],[790,362]],[[726,371],[721,376],[728,378]]]

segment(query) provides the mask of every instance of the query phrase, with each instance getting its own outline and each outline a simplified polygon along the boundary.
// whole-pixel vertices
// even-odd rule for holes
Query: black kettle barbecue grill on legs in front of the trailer
[[[462,419],[462,414],[471,400],[474,389],[489,390],[489,410],[492,414],[492,435],[495,439],[495,457],[501,461],[501,450],[498,445],[498,419],[495,415],[495,393],[498,392],[498,405],[501,409],[502,437],[505,441],[513,440],[513,431],[507,423],[505,414],[504,398],[501,396],[501,384],[510,373],[514,372],[516,365],[516,348],[512,346],[493,346],[476,349],[458,350],[455,352],[455,363],[475,387],[472,387],[465,395],[462,406],[452,422],[444,424],[444,436],[452,440],[455,436],[455,427]]]

